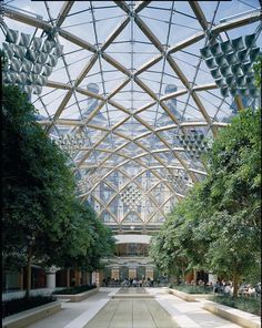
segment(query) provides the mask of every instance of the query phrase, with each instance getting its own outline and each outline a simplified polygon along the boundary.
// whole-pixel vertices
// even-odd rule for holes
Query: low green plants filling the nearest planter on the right
[[[236,308],[241,311],[246,311],[256,316],[261,316],[261,298],[246,297],[229,297],[229,296],[213,296],[210,300]]]

